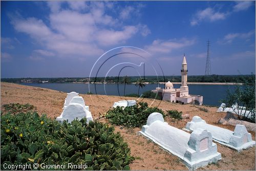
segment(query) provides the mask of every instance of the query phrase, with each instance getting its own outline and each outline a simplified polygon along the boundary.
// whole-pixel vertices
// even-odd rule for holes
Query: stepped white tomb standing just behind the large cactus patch
[[[87,123],[89,123],[89,121],[93,121],[92,114],[89,111],[89,106],[84,103],[83,98],[78,96],[78,93],[76,92],[67,94],[63,111],[56,120],[60,122],[68,120],[68,123],[71,123],[76,118],[80,120],[86,117]]]

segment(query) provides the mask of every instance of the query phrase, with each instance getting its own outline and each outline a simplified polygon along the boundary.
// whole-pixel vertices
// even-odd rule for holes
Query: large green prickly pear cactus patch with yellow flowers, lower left
[[[130,148],[113,131],[107,124],[87,124],[86,119],[59,123],[37,113],[2,115],[1,169],[5,163],[58,164],[66,169],[71,169],[68,163],[87,163],[87,169],[94,170],[130,169],[134,160]]]

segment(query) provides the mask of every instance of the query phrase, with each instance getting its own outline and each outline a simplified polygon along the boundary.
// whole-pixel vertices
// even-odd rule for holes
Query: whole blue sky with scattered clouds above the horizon
[[[204,75],[208,39],[212,74],[255,73],[254,1],[1,1],[2,78]]]

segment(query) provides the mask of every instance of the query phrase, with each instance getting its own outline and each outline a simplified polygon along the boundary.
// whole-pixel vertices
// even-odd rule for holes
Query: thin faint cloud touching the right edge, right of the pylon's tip
[[[229,33],[224,36],[223,41],[221,41],[222,44],[230,44],[234,39],[240,38],[240,39],[248,39],[252,36],[255,36],[255,30],[251,30],[248,33]]]

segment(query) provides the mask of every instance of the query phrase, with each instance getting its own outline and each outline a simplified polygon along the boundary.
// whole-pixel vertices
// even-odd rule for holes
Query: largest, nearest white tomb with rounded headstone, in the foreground
[[[192,170],[221,160],[221,154],[217,152],[217,145],[212,143],[210,132],[199,129],[190,135],[168,125],[160,113],[150,114],[139,133],[181,158]]]

